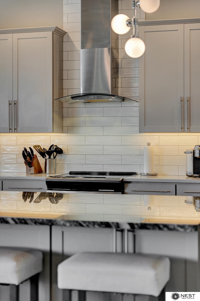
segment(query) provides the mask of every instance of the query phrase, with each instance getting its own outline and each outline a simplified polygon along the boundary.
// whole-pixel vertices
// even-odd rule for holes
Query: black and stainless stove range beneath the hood
[[[136,172],[69,172],[47,177],[47,192],[123,194],[123,178],[136,174]]]

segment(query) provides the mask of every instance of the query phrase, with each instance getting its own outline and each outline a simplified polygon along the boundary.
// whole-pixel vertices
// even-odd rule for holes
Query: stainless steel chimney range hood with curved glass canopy
[[[116,14],[118,1],[81,1],[81,93],[56,100],[92,103],[127,99],[138,102],[118,96],[118,35],[110,25]]]

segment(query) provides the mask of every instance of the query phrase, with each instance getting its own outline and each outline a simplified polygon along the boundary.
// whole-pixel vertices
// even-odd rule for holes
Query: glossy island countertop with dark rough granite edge
[[[0,223],[195,231],[200,215],[188,196],[1,191]]]

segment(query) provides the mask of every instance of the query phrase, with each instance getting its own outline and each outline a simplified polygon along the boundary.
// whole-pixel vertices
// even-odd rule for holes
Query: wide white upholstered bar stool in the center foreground
[[[83,252],[58,265],[58,288],[78,290],[79,301],[86,300],[86,291],[159,296],[163,301],[169,277],[169,258],[159,255]]]

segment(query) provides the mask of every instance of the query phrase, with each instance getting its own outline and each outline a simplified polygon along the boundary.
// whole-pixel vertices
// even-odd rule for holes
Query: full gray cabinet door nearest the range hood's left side
[[[48,119],[53,120],[52,63],[52,32],[13,34],[15,132],[48,131]]]

